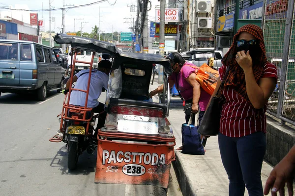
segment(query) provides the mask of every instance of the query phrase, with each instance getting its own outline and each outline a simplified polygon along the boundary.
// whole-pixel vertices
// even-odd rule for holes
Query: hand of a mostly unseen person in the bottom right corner
[[[295,146],[288,154],[273,168],[266,180],[264,194],[267,195],[271,189],[271,196],[285,195],[285,184],[287,183],[289,196],[293,196],[293,179],[295,175]]]

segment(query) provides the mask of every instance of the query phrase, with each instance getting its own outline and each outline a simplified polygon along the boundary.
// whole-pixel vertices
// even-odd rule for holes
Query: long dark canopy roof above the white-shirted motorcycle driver
[[[58,44],[70,44],[72,48],[75,49],[109,53],[113,57],[116,56],[116,54],[121,53],[121,51],[114,44],[86,37],[58,33],[54,37],[54,41],[56,41]]]

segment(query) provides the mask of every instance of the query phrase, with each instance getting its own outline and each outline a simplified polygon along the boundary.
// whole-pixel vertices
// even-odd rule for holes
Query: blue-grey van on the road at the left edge
[[[63,89],[64,74],[53,48],[21,40],[0,41],[0,94],[34,92],[45,100],[48,91]]]

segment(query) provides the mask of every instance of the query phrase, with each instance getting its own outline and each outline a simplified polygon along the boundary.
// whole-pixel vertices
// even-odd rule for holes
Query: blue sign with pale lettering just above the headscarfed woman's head
[[[263,2],[251,5],[250,7],[239,10],[239,19],[261,19],[263,14]]]

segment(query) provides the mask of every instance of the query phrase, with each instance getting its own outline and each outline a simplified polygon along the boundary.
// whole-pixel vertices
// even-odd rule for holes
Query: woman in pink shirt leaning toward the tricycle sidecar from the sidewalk
[[[199,82],[196,80],[196,69],[190,67],[195,65],[186,62],[177,52],[170,53],[166,58],[170,60],[173,71],[172,75],[169,77],[169,85],[172,87],[176,84],[176,88],[179,91],[180,96],[185,101],[185,122],[188,123],[191,113],[199,112],[200,123],[211,96],[201,88]],[[163,92],[163,85],[151,91],[149,93],[149,97],[161,92]],[[192,124],[194,123],[195,118],[193,116]],[[178,147],[177,149],[181,150],[182,147]]]

